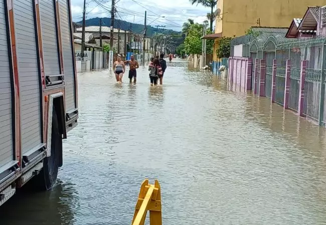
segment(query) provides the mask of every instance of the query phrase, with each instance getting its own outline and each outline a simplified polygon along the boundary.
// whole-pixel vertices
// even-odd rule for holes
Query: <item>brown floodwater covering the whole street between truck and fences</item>
[[[185,60],[167,63],[156,87],[145,67],[137,84],[79,74],[58,184],[18,193],[0,223],[130,224],[148,177],[161,184],[163,224],[326,224],[324,129]]]

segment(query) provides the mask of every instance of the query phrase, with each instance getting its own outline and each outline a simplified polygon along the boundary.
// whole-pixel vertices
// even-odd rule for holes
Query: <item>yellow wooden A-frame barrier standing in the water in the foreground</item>
[[[162,225],[160,185],[157,179],[155,179],[154,184],[148,184],[148,179],[142,182],[135,213],[133,214],[132,225],[143,225],[147,210],[149,210],[149,224]]]

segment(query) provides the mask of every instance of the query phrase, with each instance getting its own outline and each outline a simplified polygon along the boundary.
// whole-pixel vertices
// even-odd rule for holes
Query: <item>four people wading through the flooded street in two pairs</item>
[[[170,55],[169,55],[170,56]],[[171,61],[171,59],[170,59]],[[122,82],[122,76],[125,72],[125,65],[129,64],[129,82],[136,83],[137,81],[137,68],[139,68],[138,62],[134,59],[133,55],[131,55],[130,60],[121,60],[121,55],[118,55],[117,60],[113,63],[113,71],[115,73],[116,81],[121,83]],[[159,81],[159,84],[163,84],[163,76],[167,69],[167,61],[164,59],[164,53],[161,53],[159,56],[157,55],[155,58],[150,58],[150,62],[148,65],[148,71],[149,71],[149,79],[150,79],[150,85],[157,85],[157,81]]]

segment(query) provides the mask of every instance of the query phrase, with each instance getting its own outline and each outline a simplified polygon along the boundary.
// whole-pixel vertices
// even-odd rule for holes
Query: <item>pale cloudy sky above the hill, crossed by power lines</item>
[[[210,8],[192,5],[189,0],[115,0],[116,18],[134,23],[144,23],[147,10],[147,24],[165,25],[167,29],[180,31],[188,18],[203,23]],[[111,17],[111,0],[86,0],[86,18]],[[141,3],[140,3],[141,2]],[[154,2],[154,4],[153,4]],[[178,2],[178,3],[176,3]],[[82,20],[83,0],[71,0],[74,21]],[[109,26],[110,24],[105,24]]]

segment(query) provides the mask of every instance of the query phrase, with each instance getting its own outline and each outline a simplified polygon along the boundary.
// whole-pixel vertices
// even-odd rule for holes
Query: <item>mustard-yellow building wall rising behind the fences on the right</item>
[[[217,0],[214,52],[222,36],[244,35],[251,26],[288,27],[307,5],[323,5],[325,0]],[[205,37],[204,37],[205,38]],[[214,54],[213,60],[217,60]]]

